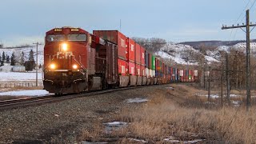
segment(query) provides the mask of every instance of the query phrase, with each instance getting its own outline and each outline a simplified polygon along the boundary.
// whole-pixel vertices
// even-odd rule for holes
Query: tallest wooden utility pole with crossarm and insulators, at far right
[[[222,30],[226,29],[236,29],[246,27],[246,110],[249,110],[250,107],[250,26],[256,26],[256,24],[250,24],[250,14],[249,10],[246,10],[246,25],[242,26],[222,26]],[[254,29],[253,28],[253,29]],[[252,30],[253,30],[252,29]]]

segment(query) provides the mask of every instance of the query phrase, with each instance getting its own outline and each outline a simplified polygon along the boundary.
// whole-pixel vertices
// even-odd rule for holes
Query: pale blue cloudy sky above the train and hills
[[[90,33],[119,30],[120,19],[127,37],[171,42],[245,39],[242,30],[221,27],[245,22],[248,2],[250,8],[254,0],[2,0],[0,41],[8,46],[43,42],[47,30],[62,26]],[[251,22],[256,22],[255,7]],[[255,30],[251,37],[256,38]]]

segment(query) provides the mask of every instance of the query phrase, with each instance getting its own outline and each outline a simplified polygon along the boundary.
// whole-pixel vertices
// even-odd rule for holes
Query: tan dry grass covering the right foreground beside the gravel
[[[124,109],[114,116],[115,121],[130,122],[129,126],[111,134],[104,134],[98,126],[94,132],[84,133],[83,138],[119,138],[118,142],[123,143],[130,143],[128,138],[138,138],[165,143],[164,138],[173,136],[182,141],[205,139],[206,143],[256,142],[256,107],[249,112],[244,107],[219,108],[218,105],[208,109],[206,98],[194,97],[198,90],[182,85],[174,88],[158,90],[149,95],[150,102],[135,110]]]

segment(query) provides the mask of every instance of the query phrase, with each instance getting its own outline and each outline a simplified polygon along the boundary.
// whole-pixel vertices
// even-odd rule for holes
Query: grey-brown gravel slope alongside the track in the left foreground
[[[131,109],[139,103],[129,98],[147,98],[156,89],[169,85],[147,86],[74,98],[42,106],[30,106],[0,112],[0,143],[78,142],[81,130],[90,129],[94,122],[110,119],[123,106]]]

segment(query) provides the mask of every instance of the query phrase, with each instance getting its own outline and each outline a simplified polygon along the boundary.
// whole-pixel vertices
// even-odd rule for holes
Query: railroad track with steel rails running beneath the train
[[[158,86],[158,85],[153,85],[153,86]],[[82,98],[82,97],[96,95],[96,94],[106,94],[106,93],[111,93],[111,92],[116,92],[121,90],[139,89],[143,87],[150,87],[150,86],[124,87],[124,88],[110,89],[110,90],[90,91],[82,94],[63,94],[61,97],[56,97],[54,95],[47,95],[43,97],[5,100],[5,101],[0,101],[0,110],[13,110],[17,108],[26,107],[26,106],[38,106],[38,105],[42,105],[50,102],[61,102],[67,99]]]

